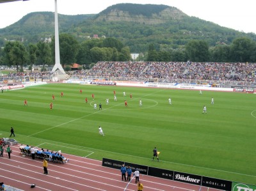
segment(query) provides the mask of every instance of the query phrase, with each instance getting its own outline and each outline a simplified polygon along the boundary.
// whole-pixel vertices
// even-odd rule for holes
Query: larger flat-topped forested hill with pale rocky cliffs
[[[179,49],[190,40],[205,40],[210,47],[230,45],[239,37],[256,40],[256,34],[243,33],[196,17],[181,10],[156,4],[115,4],[72,29],[72,33],[109,36],[122,40],[131,52],[147,52],[154,43],[157,50]]]

